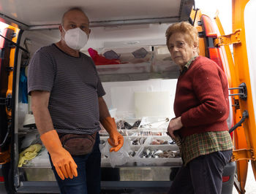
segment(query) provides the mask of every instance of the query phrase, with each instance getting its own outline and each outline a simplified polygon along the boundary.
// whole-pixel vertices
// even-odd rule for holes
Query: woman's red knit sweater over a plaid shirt
[[[181,137],[206,131],[227,131],[227,78],[217,63],[199,56],[178,77],[174,101],[176,117],[184,125]]]

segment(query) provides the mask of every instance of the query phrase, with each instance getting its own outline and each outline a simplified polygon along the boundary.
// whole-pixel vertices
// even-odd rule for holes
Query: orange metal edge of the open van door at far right
[[[247,88],[247,100],[243,101],[239,99],[241,112],[245,110],[248,112],[249,117],[244,122],[244,135],[245,139],[240,137],[240,133],[236,131],[236,141],[235,146],[238,150],[234,150],[233,159],[234,160],[245,160],[251,161],[252,171],[256,179],[256,123],[255,123],[255,113],[252,102],[252,88],[249,76],[249,65],[246,50],[246,36],[245,36],[245,26],[244,26],[244,9],[249,0],[233,0],[232,1],[232,28],[233,33],[241,29],[240,34],[240,44],[233,44],[233,56],[234,56],[234,69],[236,73],[236,82],[244,82]],[[239,149],[241,145],[244,149]],[[248,165],[248,163],[246,164]],[[246,183],[247,168],[246,165],[238,166],[238,184],[236,188],[239,193],[245,193],[244,186]]]

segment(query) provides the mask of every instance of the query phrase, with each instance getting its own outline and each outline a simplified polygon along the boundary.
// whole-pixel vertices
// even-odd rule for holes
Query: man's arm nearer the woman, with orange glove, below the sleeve
[[[99,121],[102,123],[106,131],[108,131],[110,138],[108,143],[112,146],[110,152],[117,152],[124,144],[124,137],[118,133],[116,128],[116,121],[114,118],[110,117],[108,112],[108,106],[105,103],[105,100],[102,97],[98,98],[99,100]]]

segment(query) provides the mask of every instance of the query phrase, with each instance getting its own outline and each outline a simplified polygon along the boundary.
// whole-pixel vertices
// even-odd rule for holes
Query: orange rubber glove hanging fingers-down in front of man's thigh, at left
[[[50,158],[59,177],[64,180],[64,178],[72,179],[73,176],[78,176],[78,166],[69,152],[62,147],[56,130],[43,133],[40,138],[50,153]]]

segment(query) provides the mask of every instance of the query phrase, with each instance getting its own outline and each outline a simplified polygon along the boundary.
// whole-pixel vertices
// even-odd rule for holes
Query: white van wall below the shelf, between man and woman
[[[117,117],[168,116],[175,117],[173,101],[177,79],[150,79],[136,82],[103,82],[104,99]],[[139,94],[138,94],[139,93]],[[145,101],[136,96],[151,96]],[[155,94],[155,95],[154,95]],[[146,101],[148,99],[148,101]],[[145,112],[136,108],[143,107]]]

